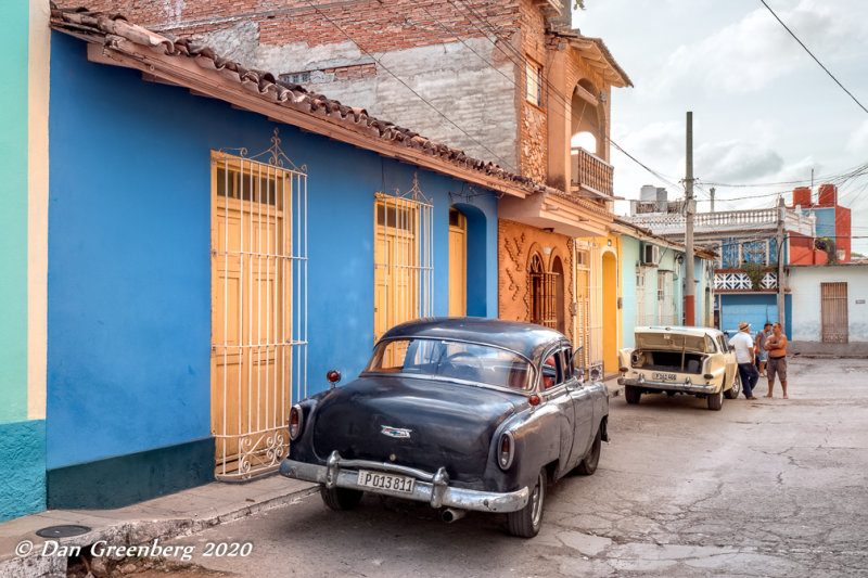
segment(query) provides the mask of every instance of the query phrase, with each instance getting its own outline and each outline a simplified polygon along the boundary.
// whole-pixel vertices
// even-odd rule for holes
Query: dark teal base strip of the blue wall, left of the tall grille
[[[214,481],[214,438],[48,471],[48,506],[110,510]]]

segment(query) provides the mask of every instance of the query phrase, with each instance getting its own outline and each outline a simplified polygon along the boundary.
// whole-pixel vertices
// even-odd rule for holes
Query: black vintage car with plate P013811
[[[357,380],[292,408],[280,473],[319,483],[333,510],[369,491],[429,502],[447,522],[507,513],[511,534],[536,536],[547,484],[592,474],[608,441],[608,389],[574,357],[561,333],[528,323],[404,323]]]

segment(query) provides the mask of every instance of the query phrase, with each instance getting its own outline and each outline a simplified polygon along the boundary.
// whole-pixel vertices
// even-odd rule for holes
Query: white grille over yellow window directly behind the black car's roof
[[[374,342],[432,314],[433,208],[416,179],[407,193],[374,195]]]

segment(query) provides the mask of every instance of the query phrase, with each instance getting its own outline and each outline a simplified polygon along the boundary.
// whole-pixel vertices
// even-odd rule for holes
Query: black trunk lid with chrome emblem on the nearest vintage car
[[[492,436],[521,398],[441,380],[366,376],[318,404],[314,450],[326,459],[372,460],[478,480]]]

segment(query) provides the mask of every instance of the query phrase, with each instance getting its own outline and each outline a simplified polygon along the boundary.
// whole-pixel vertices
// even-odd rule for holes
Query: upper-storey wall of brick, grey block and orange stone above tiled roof
[[[570,99],[579,78],[608,89],[577,55],[566,78],[549,75],[547,21],[534,0],[318,0],[316,9],[306,0],[85,3],[192,36],[245,66],[309,72],[311,90],[539,182],[549,180],[549,100]],[[540,106],[525,100],[525,57],[542,66],[544,85],[556,92],[544,90]],[[599,108],[608,159],[609,100]]]

